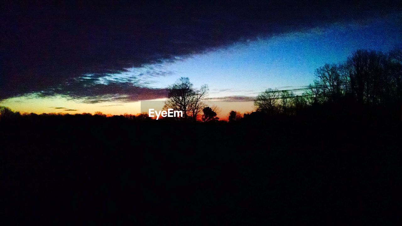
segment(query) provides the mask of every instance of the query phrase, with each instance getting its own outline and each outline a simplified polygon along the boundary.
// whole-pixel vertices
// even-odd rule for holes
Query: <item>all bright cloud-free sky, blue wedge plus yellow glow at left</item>
[[[260,37],[223,49],[212,49],[183,58],[176,57],[169,63],[148,64],[130,68],[124,73],[108,74],[100,77],[99,82],[108,84],[108,81],[122,81],[133,83],[133,86],[166,88],[180,77],[189,77],[196,88],[207,84],[210,98],[254,97],[267,88],[300,88],[313,82],[314,70],[317,67],[324,63],[345,61],[357,49],[386,52],[394,47],[400,48],[401,18],[401,14],[389,14],[384,17],[338,22],[299,32]],[[92,76],[82,75],[82,78],[89,80]],[[84,88],[77,86],[78,91],[89,92],[85,89],[85,83],[83,85]],[[109,86],[105,86],[107,87]],[[148,93],[145,90],[143,96],[148,97]],[[141,92],[139,94],[141,95]],[[37,113],[63,112],[64,108],[74,109],[77,113],[103,111],[123,114],[139,111],[139,106],[133,102],[109,96],[106,100],[110,101],[103,103],[83,102],[80,98],[66,95],[36,98],[17,96],[2,100],[0,104],[22,112]],[[252,110],[252,104],[248,108]]]

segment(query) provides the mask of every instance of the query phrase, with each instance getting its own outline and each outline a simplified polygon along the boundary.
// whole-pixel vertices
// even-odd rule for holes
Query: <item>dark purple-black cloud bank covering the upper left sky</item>
[[[88,102],[161,97],[166,90],[138,84],[137,78],[105,84],[100,78],[257,37],[391,13],[402,4],[244,2],[6,1],[0,18],[0,99],[32,92],[88,98]],[[85,74],[94,75],[70,82]]]

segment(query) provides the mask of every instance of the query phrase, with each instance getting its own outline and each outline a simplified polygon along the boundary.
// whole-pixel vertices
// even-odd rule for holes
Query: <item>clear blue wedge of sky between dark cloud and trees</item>
[[[266,88],[306,86],[324,63],[342,62],[357,49],[389,51],[400,45],[400,19],[390,15],[337,23],[153,65],[166,76],[151,78],[151,86],[164,88],[182,76],[195,87],[208,84],[211,96],[255,96]]]

